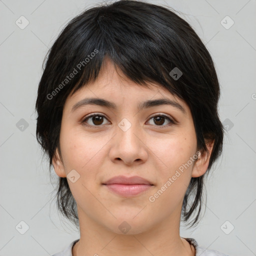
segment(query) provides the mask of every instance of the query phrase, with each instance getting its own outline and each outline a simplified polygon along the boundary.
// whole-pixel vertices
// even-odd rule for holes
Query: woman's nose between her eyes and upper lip
[[[148,147],[141,127],[123,118],[111,139],[109,157],[113,162],[123,161],[126,165],[137,165],[146,161]]]

